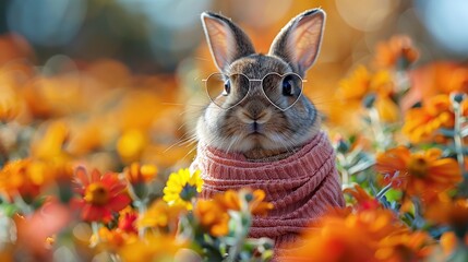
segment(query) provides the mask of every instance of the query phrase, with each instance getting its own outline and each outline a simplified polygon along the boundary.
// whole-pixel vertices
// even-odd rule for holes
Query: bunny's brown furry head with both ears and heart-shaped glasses
[[[302,95],[305,71],[316,60],[325,24],[321,9],[292,19],[268,55],[256,53],[245,33],[219,14],[202,14],[219,73],[206,79],[212,103],[199,119],[201,142],[227,152],[289,151],[320,128],[313,104]]]

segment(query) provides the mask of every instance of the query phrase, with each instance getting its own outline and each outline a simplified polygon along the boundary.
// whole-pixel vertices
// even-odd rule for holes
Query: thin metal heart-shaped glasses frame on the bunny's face
[[[212,78],[213,75],[223,75],[223,76],[228,76],[228,79],[230,79],[230,78],[231,78],[231,75],[237,75],[237,74],[242,75],[242,76],[244,76],[247,80],[249,80],[249,90],[248,90],[247,94],[244,95],[244,97],[242,97],[242,99],[240,99],[238,103],[236,103],[235,105],[232,105],[232,106],[230,106],[230,107],[228,107],[228,108],[223,108],[223,107],[220,107],[219,105],[217,105],[217,104],[215,103],[215,100],[209,96],[209,92],[208,92],[208,84],[207,84],[207,83],[208,83],[208,80],[209,80],[209,78]],[[292,103],[291,105],[289,105],[289,106],[288,106],[287,108],[285,108],[285,109],[280,108],[280,107],[279,107],[279,106],[277,106],[275,103],[273,103],[273,102],[272,102],[272,99],[269,99],[269,97],[266,95],[266,93],[265,93],[265,88],[263,87],[263,81],[265,80],[265,78],[266,78],[266,76],[269,76],[269,75],[272,75],[272,74],[276,74],[276,75],[278,75],[278,76],[279,76],[279,78],[281,78],[281,79],[284,79],[286,75],[291,75],[291,74],[292,74],[292,75],[295,75],[295,76],[298,76],[298,78],[301,80],[301,84],[302,84],[302,86],[301,86],[301,88],[300,88],[300,93],[299,93],[299,95],[298,95],[298,98],[295,100],[295,103]],[[235,74],[231,74],[231,75],[227,75],[227,74],[224,74],[224,73],[215,72],[215,73],[209,74],[209,75],[208,75],[208,78],[206,78],[206,79],[202,80],[203,82],[205,82],[205,91],[206,91],[206,95],[208,96],[209,100],[211,100],[213,104],[215,104],[217,107],[219,107],[220,109],[223,109],[223,110],[229,110],[229,109],[231,109],[231,108],[236,107],[237,105],[239,105],[240,103],[242,103],[242,102],[245,99],[245,97],[248,97],[248,96],[249,96],[250,90],[251,90],[251,87],[252,87],[251,83],[252,83],[252,82],[260,82],[260,83],[261,83],[261,85],[262,85],[262,93],[263,93],[263,95],[266,97],[266,99],[267,99],[267,100],[268,100],[273,106],[275,106],[276,108],[278,108],[279,110],[281,110],[281,111],[286,111],[286,110],[288,110],[289,108],[291,108],[293,105],[296,105],[296,103],[298,103],[298,100],[299,100],[299,98],[301,97],[301,95],[302,95],[302,93],[303,93],[303,90],[304,90],[304,84],[303,84],[303,83],[308,82],[307,80],[302,79],[299,74],[293,73],[293,72],[285,73],[285,74],[280,74],[280,73],[272,72],[272,73],[267,73],[267,74],[265,74],[262,79],[249,79],[249,76],[247,76],[247,75],[245,75],[245,74],[243,74],[243,73],[235,73]]]

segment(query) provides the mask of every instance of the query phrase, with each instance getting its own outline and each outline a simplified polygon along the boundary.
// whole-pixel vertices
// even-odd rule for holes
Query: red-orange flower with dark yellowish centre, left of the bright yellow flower
[[[100,175],[94,169],[88,176],[82,167],[76,169],[77,192],[82,199],[76,204],[82,209],[81,217],[87,222],[109,222],[113,212],[119,212],[130,204],[127,184],[117,174]]]

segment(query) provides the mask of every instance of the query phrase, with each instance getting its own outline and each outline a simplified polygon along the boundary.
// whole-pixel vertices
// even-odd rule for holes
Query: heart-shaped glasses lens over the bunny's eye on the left
[[[229,109],[245,98],[249,93],[249,79],[243,74],[227,76],[214,73],[206,80],[206,92],[216,106]]]

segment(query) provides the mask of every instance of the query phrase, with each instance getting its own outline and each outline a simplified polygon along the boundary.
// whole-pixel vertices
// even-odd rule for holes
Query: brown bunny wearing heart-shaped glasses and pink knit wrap
[[[228,189],[264,190],[275,207],[254,217],[250,236],[269,237],[277,248],[299,241],[328,206],[345,204],[334,150],[320,130],[317,110],[302,95],[325,16],[321,9],[299,14],[262,55],[229,19],[201,15],[224,91],[197,121],[192,168],[202,171],[204,198]]]

